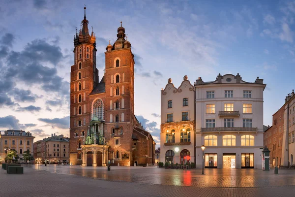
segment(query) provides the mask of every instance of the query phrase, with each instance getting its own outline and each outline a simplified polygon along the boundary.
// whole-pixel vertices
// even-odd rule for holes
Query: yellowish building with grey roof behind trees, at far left
[[[4,161],[7,151],[14,149],[20,157],[18,162],[21,162],[23,153],[29,150],[33,155],[33,140],[34,136],[28,131],[7,130],[0,131],[0,160]]]

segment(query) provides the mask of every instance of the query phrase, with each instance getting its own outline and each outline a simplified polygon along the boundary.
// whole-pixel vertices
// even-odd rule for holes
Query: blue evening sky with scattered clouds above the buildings
[[[168,78],[264,79],[264,125],[295,89],[295,1],[0,0],[0,131],[35,141],[69,136],[73,38],[84,17],[103,73],[122,21],[135,56],[135,115],[160,144],[160,91]],[[99,76],[101,79],[102,75]]]

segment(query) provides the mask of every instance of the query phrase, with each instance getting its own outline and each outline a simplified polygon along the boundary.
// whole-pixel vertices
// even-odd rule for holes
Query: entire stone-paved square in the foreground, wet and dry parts
[[[0,170],[0,197],[294,197],[295,170],[26,165]]]

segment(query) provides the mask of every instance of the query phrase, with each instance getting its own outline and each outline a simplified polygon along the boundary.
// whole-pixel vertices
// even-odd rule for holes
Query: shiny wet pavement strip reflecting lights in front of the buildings
[[[29,167],[29,166],[28,166]],[[30,167],[59,174],[71,174],[108,181],[192,187],[271,187],[295,185],[295,170],[283,169],[279,174],[261,169],[176,170],[157,167],[82,167],[62,165],[31,165]]]

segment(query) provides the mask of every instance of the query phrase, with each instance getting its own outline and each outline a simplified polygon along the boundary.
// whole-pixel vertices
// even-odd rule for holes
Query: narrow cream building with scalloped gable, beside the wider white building
[[[183,164],[195,161],[195,88],[185,75],[176,88],[168,80],[161,91],[161,152],[159,161]]]

